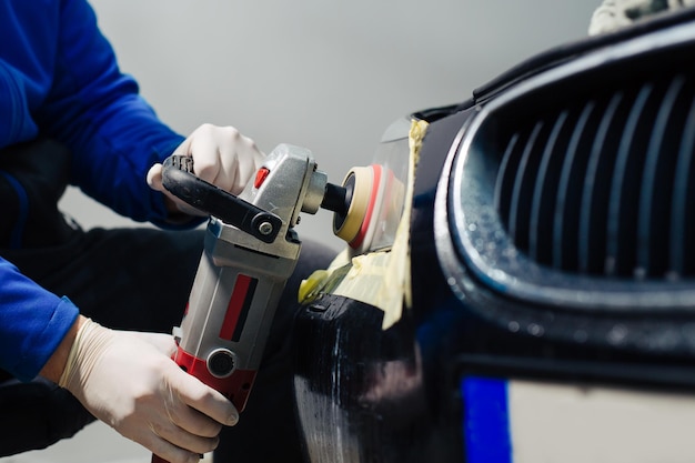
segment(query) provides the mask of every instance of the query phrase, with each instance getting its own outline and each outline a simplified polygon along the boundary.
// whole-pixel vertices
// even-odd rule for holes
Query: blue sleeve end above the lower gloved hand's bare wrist
[[[0,368],[21,381],[36,378],[77,318],[72,302],[0,258]]]

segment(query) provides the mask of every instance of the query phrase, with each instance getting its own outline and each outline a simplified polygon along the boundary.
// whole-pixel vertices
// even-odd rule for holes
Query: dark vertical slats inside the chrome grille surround
[[[514,245],[537,263],[637,280],[692,276],[695,73],[628,82],[530,120],[501,118],[494,204]]]

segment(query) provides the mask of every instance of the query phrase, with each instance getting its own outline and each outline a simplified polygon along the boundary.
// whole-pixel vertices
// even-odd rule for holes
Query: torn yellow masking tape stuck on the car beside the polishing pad
[[[331,293],[374,305],[384,311],[382,329],[401,320],[403,304],[411,306],[410,222],[415,184],[415,167],[427,129],[425,121],[411,123],[407,185],[403,214],[391,250],[371,252],[350,259],[349,251],[339,254],[328,271],[314,272],[302,283],[300,300],[311,301],[319,293]]]

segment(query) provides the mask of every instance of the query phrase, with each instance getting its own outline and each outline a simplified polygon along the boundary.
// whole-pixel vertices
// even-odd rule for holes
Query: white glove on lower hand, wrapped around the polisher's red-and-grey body
[[[183,372],[167,334],[80,328],[59,384],[99,420],[171,463],[198,462],[239,414],[220,392]]]

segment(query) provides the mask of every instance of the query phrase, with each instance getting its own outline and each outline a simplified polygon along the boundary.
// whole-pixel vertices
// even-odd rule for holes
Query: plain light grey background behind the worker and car
[[[551,47],[585,36],[600,0],[92,0],[121,68],[173,129],[232,124],[270,152],[311,149],[340,182],[367,164],[382,131]],[[71,189],[63,210],[84,227],[130,225]],[[304,238],[341,243],[330,215]],[[1,463],[148,462],[105,425]]]

